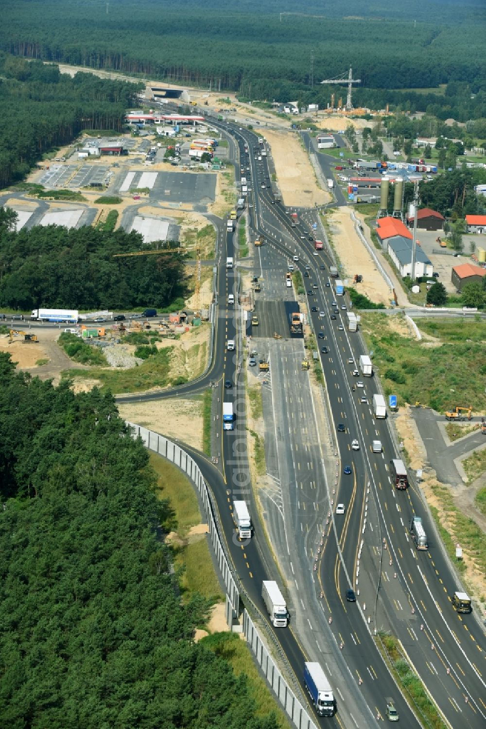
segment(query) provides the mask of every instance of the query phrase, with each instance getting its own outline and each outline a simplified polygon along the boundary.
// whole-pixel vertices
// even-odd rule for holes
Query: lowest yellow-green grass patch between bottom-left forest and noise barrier
[[[227,660],[232,666],[235,676],[246,674],[250,697],[256,703],[257,717],[268,717],[270,719],[273,714],[280,729],[290,729],[291,725],[285,712],[279,706],[275,706],[273,693],[270,691],[267,682],[259,674],[248,648],[237,635],[234,633],[215,633],[212,636],[203,638],[201,643],[205,648]],[[271,706],[275,706],[272,712],[269,711]]]

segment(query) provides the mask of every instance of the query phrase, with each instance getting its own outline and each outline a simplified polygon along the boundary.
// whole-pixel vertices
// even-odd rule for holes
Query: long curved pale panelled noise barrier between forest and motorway
[[[127,421],[127,424],[132,429],[132,437],[141,437],[146,448],[149,448],[150,451],[154,451],[154,453],[158,453],[163,458],[171,461],[184,471],[190,480],[192,480],[192,483],[194,483],[197,488],[197,492],[203,502],[205,518],[208,521],[211,544],[213,545],[219,570],[227,589],[227,600],[230,601],[232,608],[235,610],[236,615],[238,615],[240,609],[240,593],[243,592],[248,606],[251,606],[252,609],[254,609],[255,614],[262,618],[259,609],[251,602],[251,599],[246,594],[243,586],[237,585],[237,581],[239,582],[238,576],[232,573],[227,555],[224,552],[222,539],[219,536],[222,534],[222,526],[221,523],[219,523],[216,506],[213,504],[213,496],[208,485],[205,483],[203,474],[200,472],[200,468],[195,460],[192,459],[192,457],[189,456],[189,453],[184,451],[180,445],[173,443],[165,436],[135,423],[130,423],[130,421]],[[281,703],[281,706],[289,719],[294,723],[297,729],[318,729],[317,725],[315,725],[315,723],[311,720],[310,715],[307,713],[307,710],[304,708],[301,701],[297,698],[296,693],[291,690],[289,683],[283,678],[275,660],[273,660],[270,655],[270,650],[268,649],[267,644],[265,644],[264,639],[262,639],[261,634],[257,630],[254,621],[251,619],[246,608],[243,609],[243,634],[246,638],[246,642],[248,643],[248,647],[251,648],[259,667],[264,673],[265,679],[267,679],[270,688],[273,690],[273,693],[275,693],[275,697],[279,703]],[[286,663],[289,674],[293,676],[294,674],[286,655],[283,653],[283,650],[275,639],[275,636],[273,636],[273,634],[269,631],[267,637],[271,642],[273,642],[276,652],[278,652],[283,663]]]

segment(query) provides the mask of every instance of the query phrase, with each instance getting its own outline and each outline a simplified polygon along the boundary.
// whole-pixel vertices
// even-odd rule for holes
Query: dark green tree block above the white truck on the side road
[[[15,233],[0,208],[0,305],[120,311],[165,308],[184,297],[181,254],[114,258],[142,247],[140,233],[121,229],[49,225]]]

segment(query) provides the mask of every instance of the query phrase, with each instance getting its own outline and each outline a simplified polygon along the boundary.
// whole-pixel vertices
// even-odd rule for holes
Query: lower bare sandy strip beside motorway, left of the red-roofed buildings
[[[326,215],[332,235],[332,244],[337,256],[345,268],[346,277],[353,281],[355,273],[363,276],[361,284],[356,284],[356,290],[364,294],[377,304],[388,306],[391,294],[385,284],[383,276],[377,270],[375,262],[367,252],[354,229],[349,208],[337,208],[332,214]]]

